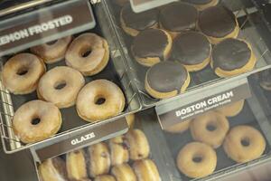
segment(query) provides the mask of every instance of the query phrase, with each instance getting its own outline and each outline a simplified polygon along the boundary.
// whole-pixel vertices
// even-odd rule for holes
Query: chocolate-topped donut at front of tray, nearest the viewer
[[[184,92],[190,74],[180,62],[159,62],[145,75],[145,90],[156,99],[166,99]]]

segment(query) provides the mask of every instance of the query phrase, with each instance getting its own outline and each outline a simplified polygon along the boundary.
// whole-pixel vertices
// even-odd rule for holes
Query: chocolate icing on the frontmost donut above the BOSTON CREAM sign
[[[188,72],[179,62],[159,62],[147,71],[146,80],[156,91],[180,90],[187,80]]]

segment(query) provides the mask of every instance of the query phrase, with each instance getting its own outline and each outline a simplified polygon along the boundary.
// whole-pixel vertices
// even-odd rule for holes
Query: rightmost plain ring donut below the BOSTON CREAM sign
[[[266,140],[257,129],[242,125],[230,129],[223,148],[228,157],[234,161],[246,163],[264,153]]]

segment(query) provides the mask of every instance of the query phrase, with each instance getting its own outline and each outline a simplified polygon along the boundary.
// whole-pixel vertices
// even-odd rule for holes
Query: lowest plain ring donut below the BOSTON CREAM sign
[[[210,176],[217,167],[217,154],[209,145],[192,142],[184,146],[177,157],[177,167],[185,176]]]

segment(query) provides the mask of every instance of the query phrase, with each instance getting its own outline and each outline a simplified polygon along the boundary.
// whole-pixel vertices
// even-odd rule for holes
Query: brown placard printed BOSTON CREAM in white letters
[[[224,90],[220,93],[202,98],[201,100],[182,105],[178,109],[170,110],[162,114],[158,112],[158,119],[162,128],[166,129],[186,119],[193,119],[210,110],[215,110],[249,97],[251,97],[249,85],[248,83],[244,83],[230,90]]]

